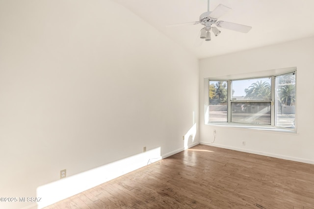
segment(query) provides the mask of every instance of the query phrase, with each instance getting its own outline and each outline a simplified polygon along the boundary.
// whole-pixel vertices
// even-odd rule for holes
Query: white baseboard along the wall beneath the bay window
[[[279,159],[288,160],[288,161],[295,161],[295,162],[300,162],[300,163],[314,164],[314,161],[311,161],[311,160],[308,160],[308,159],[303,159],[303,158],[296,158],[296,157],[291,157],[291,156],[278,155],[278,154],[261,152],[261,151],[250,150],[250,149],[242,149],[242,148],[238,148],[238,147],[226,146],[226,145],[223,145],[223,144],[213,144],[213,143],[203,142],[203,141],[200,141],[200,144],[209,145],[209,146],[215,146],[215,147],[220,147],[220,148],[225,148],[225,149],[231,149],[231,150],[236,150],[236,151],[240,151],[240,152],[247,152],[247,153],[251,153],[251,154],[263,155],[263,156],[272,157],[272,158],[279,158]]]

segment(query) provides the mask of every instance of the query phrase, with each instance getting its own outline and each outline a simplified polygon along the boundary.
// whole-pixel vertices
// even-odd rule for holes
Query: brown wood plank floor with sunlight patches
[[[197,145],[46,209],[314,209],[314,165]]]

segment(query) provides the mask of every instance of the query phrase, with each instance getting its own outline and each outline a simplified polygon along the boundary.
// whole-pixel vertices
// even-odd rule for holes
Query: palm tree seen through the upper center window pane
[[[245,98],[251,100],[271,100],[271,87],[265,81],[257,81],[245,89]]]

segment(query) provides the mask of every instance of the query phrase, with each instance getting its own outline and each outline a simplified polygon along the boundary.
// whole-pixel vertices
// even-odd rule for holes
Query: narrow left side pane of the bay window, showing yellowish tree
[[[228,82],[209,81],[209,121],[227,122]]]

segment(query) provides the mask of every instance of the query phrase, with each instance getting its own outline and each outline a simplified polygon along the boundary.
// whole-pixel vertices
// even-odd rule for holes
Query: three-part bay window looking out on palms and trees
[[[277,75],[205,81],[206,123],[296,129],[295,69]]]

